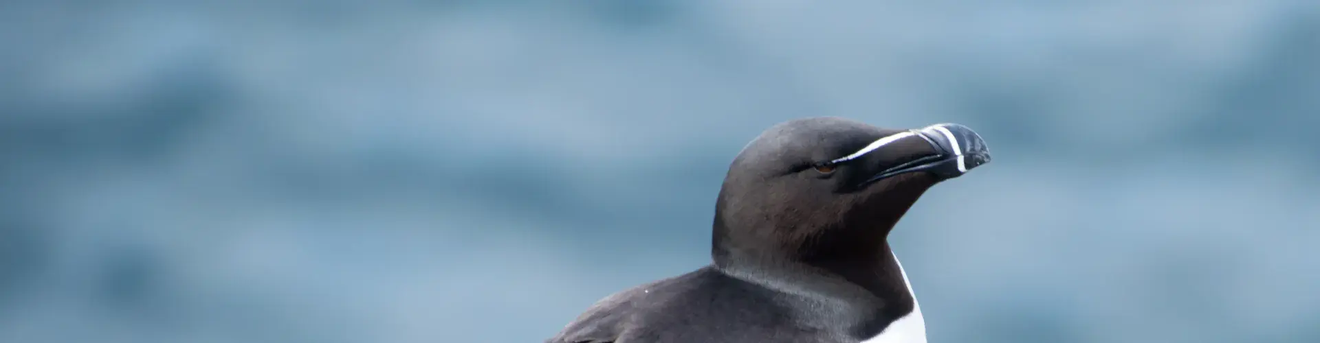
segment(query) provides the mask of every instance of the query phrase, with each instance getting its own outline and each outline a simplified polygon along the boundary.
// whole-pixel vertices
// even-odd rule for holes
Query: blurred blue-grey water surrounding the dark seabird
[[[931,342],[1320,342],[1317,1],[16,0],[0,46],[0,342],[541,342],[706,264],[803,116],[994,150],[892,236]]]

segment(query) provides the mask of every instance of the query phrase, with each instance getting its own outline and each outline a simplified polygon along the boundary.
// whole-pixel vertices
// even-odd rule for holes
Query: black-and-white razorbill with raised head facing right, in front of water
[[[929,187],[987,162],[961,124],[775,124],[729,165],[709,265],[601,298],[545,342],[925,343],[888,234]]]

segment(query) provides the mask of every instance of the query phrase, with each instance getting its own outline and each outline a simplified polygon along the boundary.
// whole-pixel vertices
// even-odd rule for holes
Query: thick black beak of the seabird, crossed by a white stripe
[[[973,168],[990,162],[990,149],[986,146],[985,140],[981,139],[981,135],[977,135],[972,128],[945,123],[911,132],[929,142],[931,148],[935,149],[935,154],[886,169],[863,183],[912,172],[927,172],[944,181],[960,177]]]

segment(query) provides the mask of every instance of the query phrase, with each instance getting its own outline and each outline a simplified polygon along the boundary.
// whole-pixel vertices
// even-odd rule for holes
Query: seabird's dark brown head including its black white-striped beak
[[[869,260],[931,186],[989,162],[958,124],[884,129],[841,117],[771,127],[734,158],[715,204],[719,266]]]

